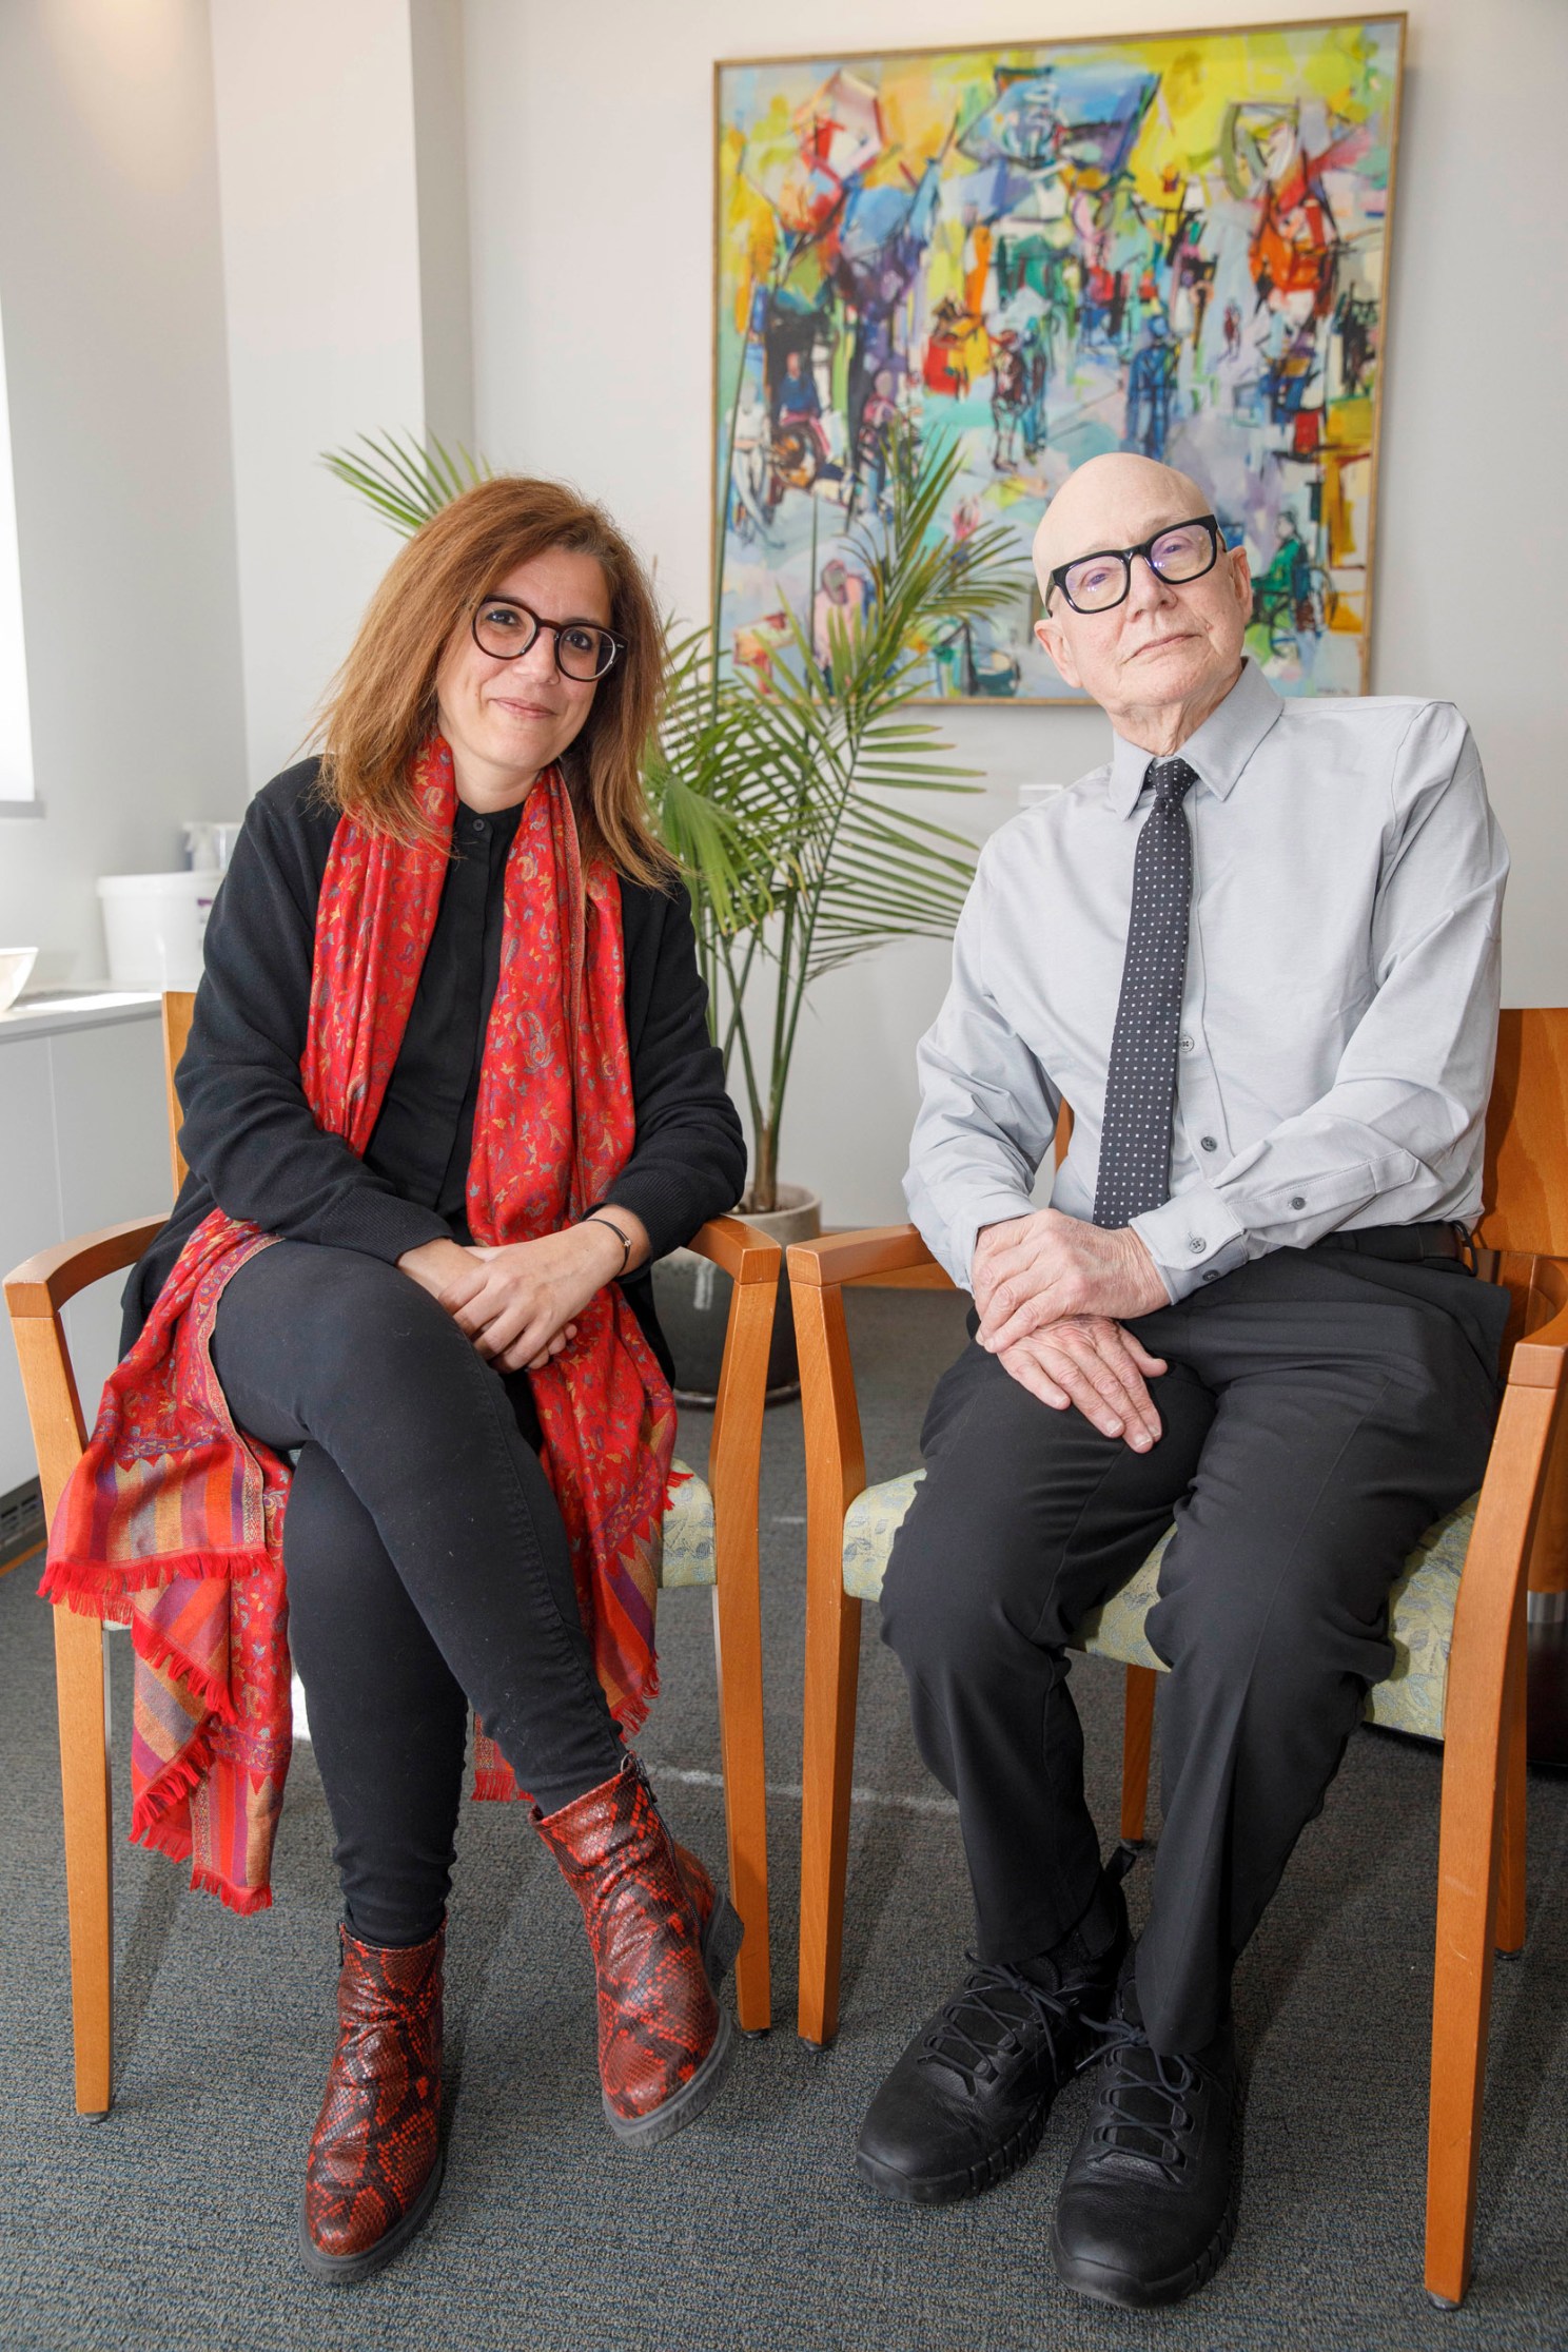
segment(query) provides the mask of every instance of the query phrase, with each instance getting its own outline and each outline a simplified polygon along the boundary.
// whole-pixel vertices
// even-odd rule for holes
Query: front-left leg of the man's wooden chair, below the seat
[[[799,2034],[827,2044],[839,2030],[849,1790],[856,1769],[860,1602],[842,1573],[809,1578],[806,1726],[799,1849]]]

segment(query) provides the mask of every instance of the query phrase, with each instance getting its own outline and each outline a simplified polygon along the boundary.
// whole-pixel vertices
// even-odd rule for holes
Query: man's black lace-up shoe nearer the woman
[[[976,1964],[914,2034],[877,2091],[856,2171],[882,2197],[947,2204],[976,2197],[1027,2164],[1051,2100],[1074,2074],[1114,1997],[1128,1945],[1114,1886],[1117,1933],[1100,1959],[1058,1971],[1053,1985],[1006,1962]]]

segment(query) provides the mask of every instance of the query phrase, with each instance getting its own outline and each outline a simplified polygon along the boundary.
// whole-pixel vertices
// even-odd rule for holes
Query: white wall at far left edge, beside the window
[[[42,811],[0,804],[0,941],[82,981],[94,877],[244,790],[202,0],[0,7],[0,313]]]

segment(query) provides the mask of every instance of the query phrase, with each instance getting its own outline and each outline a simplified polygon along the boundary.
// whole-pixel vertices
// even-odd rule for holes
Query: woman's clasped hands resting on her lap
[[[628,1265],[646,1256],[642,1221],[616,1209],[632,1242]],[[421,1242],[397,1265],[451,1315],[496,1371],[541,1371],[576,1338],[576,1317],[621,1275],[621,1235],[599,1218],[536,1242],[482,1249],[477,1242]]]

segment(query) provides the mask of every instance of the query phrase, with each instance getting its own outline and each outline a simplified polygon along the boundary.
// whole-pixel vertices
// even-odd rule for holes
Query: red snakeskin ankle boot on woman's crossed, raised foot
[[[677,1846],[637,1757],[538,1835],[583,1905],[599,1978],[599,2082],[618,2140],[649,2147],[703,2112],[724,2082],[731,2020],[715,1992],[741,1922],[693,1853]]]

